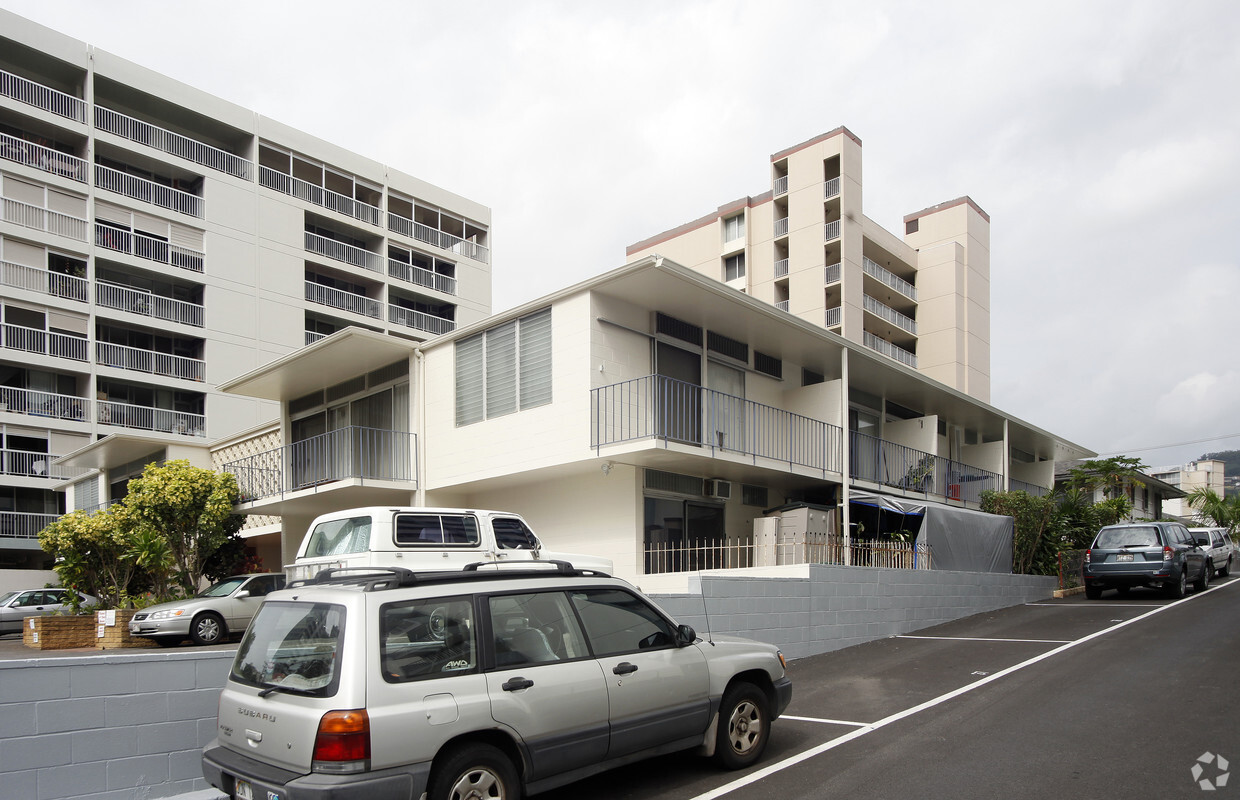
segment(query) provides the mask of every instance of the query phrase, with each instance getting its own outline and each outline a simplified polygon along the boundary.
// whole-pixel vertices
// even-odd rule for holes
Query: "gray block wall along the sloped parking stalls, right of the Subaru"
[[[804,659],[1032,600],[1055,578],[812,566],[808,578],[702,576],[701,594],[655,594],[698,635],[733,634]],[[709,620],[707,619],[709,616]]]

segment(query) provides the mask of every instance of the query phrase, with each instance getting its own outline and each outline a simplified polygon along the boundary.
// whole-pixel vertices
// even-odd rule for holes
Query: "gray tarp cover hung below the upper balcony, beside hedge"
[[[1012,517],[861,491],[849,500],[923,515],[916,541],[930,546],[935,569],[1012,573]]]

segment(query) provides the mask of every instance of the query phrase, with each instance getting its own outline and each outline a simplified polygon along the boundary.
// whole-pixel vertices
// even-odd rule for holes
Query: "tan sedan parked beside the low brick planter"
[[[246,630],[263,598],[283,588],[284,573],[279,572],[224,578],[187,600],[144,608],[129,621],[129,633],[165,647],[186,638],[196,645],[215,645]]]

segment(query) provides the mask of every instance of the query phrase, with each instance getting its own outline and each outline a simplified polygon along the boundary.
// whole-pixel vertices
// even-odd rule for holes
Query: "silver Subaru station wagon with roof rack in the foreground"
[[[263,602],[202,773],[232,798],[449,800],[691,748],[742,768],[791,698],[785,669],[567,562],[325,571]]]

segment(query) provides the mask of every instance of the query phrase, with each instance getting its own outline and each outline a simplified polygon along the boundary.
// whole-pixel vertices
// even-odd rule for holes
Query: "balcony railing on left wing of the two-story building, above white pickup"
[[[418,438],[351,425],[224,464],[242,502],[341,480],[417,480]]]

